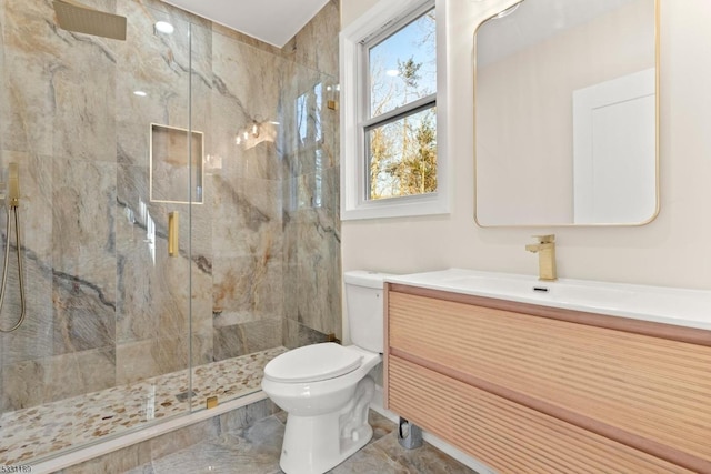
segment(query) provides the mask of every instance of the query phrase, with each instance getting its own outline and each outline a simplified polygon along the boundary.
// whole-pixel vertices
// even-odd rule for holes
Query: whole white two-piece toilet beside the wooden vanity
[[[354,345],[307,345],[264,367],[262,390],[289,415],[279,461],[284,473],[324,473],[372,437],[368,407],[375,384],[368,372],[382,360],[384,278],[365,271],[343,274]]]

